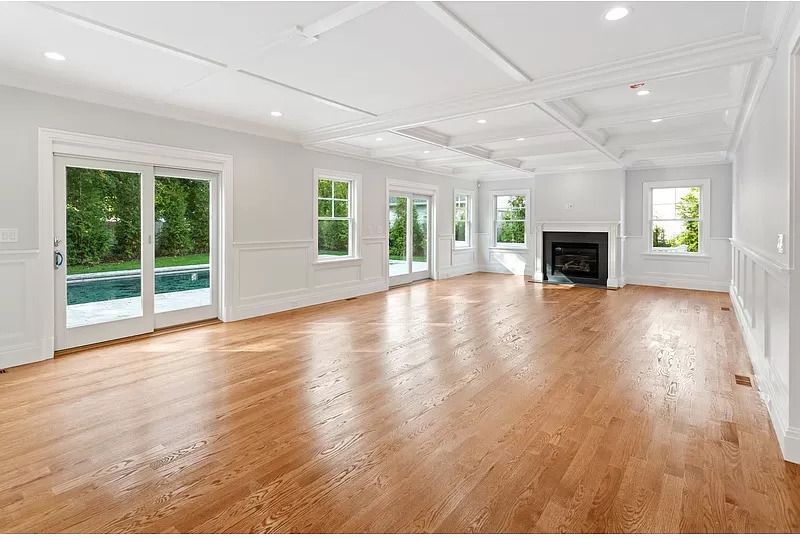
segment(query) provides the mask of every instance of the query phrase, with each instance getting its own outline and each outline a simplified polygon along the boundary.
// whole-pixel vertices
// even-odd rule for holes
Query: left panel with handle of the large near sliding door
[[[56,348],[152,331],[152,259],[144,242],[152,168],[55,163]]]

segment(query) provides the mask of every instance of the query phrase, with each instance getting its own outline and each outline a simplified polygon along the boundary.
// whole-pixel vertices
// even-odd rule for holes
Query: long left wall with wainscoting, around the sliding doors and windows
[[[39,127],[197,149],[234,158],[234,298],[231,318],[345,298],[387,287],[386,179],[435,184],[442,275],[474,270],[450,268],[453,191],[475,182],[328,155],[287,142],[214,129],[0,86],[0,228],[19,229],[19,242],[0,244],[0,367],[42,358],[46,350],[37,321],[51,309],[40,298],[35,276],[38,245],[37,130]],[[363,261],[311,264],[313,169],[363,176]],[[444,246],[444,247],[443,247]],[[44,257],[42,260],[47,260]],[[474,261],[474,258],[473,258]]]

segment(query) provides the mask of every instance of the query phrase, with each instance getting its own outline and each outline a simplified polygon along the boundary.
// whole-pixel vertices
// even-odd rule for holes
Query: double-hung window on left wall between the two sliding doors
[[[354,257],[353,179],[316,175],[317,258]]]

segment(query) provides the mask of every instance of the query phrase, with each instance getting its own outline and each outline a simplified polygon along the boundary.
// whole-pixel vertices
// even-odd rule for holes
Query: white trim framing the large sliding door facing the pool
[[[50,128],[38,130],[39,238],[35,277],[42,294],[41,332],[45,358],[55,352],[55,280],[53,279],[55,155],[146,164],[174,169],[194,169],[219,175],[218,183],[218,316],[230,319],[233,298],[233,156],[174,146],[88,135]]]

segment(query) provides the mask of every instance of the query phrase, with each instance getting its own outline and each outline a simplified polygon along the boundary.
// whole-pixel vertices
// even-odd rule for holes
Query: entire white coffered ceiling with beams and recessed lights
[[[738,144],[790,9],[2,2],[0,84],[480,180],[713,163]]]

